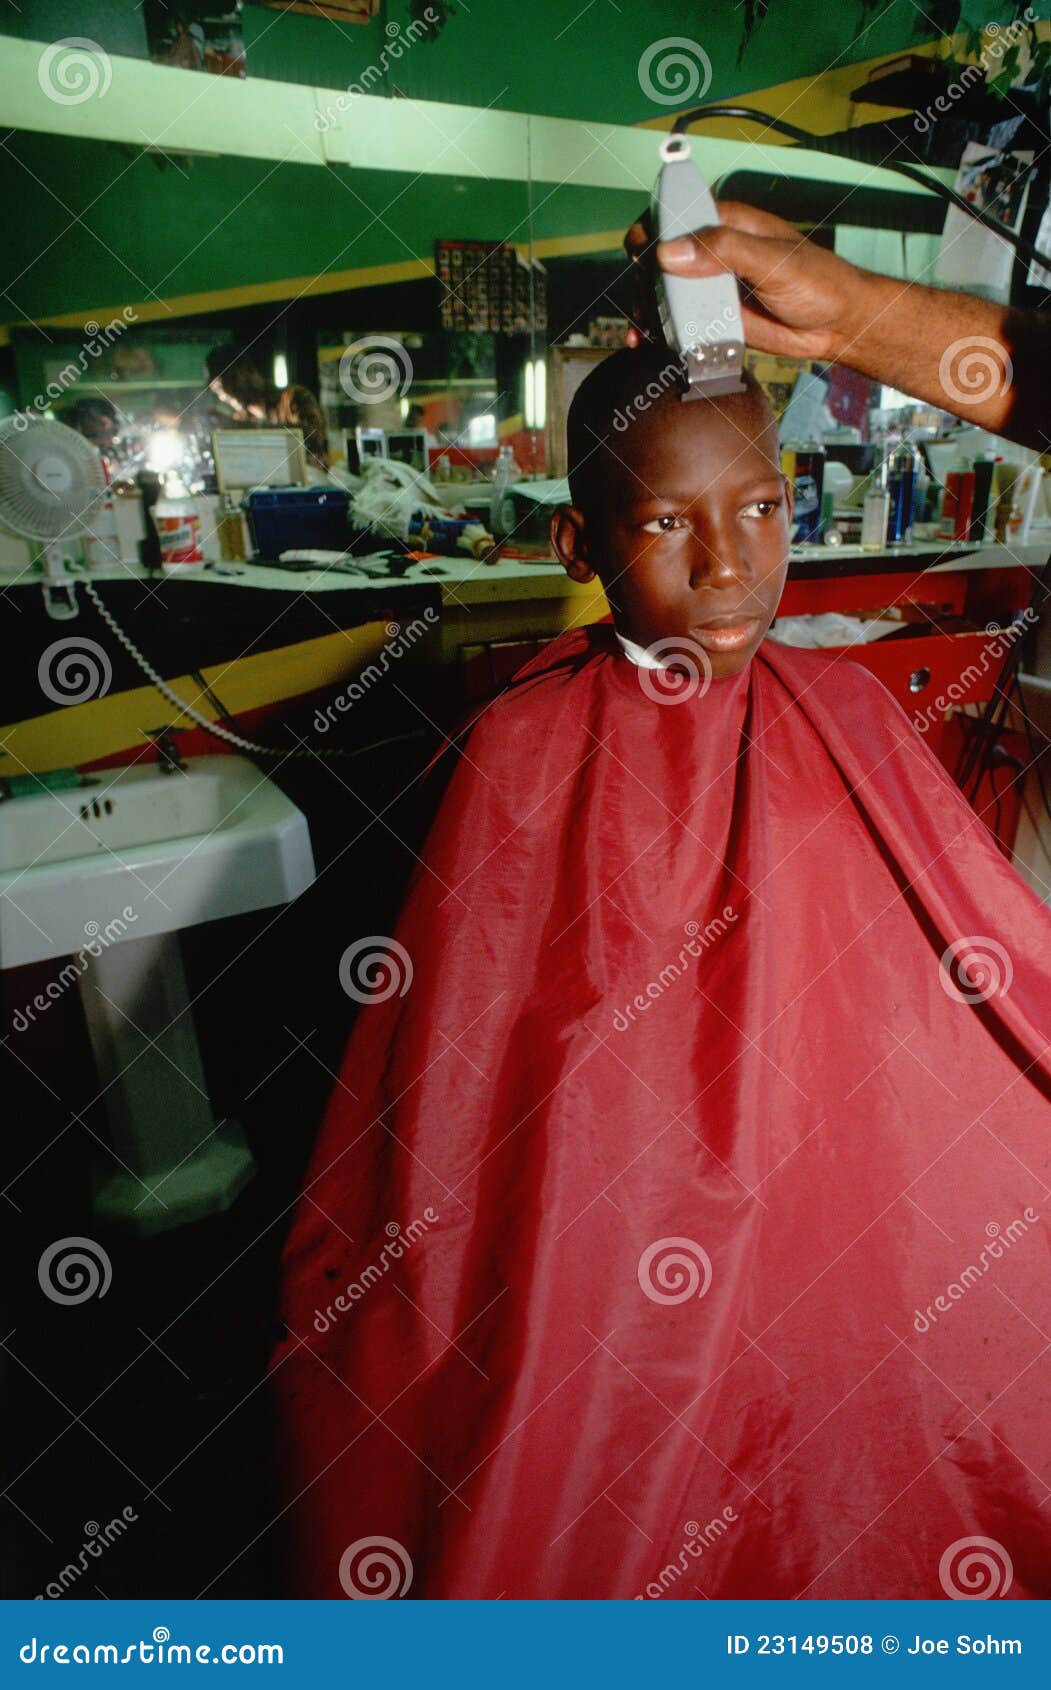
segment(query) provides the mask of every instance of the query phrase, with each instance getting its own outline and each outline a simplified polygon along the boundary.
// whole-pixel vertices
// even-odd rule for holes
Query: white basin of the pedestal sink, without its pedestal
[[[3,968],[66,957],[100,931],[117,943],[122,923],[132,940],[267,909],[314,879],[306,818],[247,757],[93,779],[0,804]]]

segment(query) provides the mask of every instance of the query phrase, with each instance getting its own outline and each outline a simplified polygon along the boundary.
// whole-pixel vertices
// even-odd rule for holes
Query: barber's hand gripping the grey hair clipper
[[[799,235],[771,211],[722,199],[722,223],[652,247],[649,216],[632,223],[624,245],[642,265],[652,255],[669,275],[732,270],[742,286],[745,343],[789,358],[835,360],[865,318],[865,270]],[[629,343],[639,343],[629,331]]]

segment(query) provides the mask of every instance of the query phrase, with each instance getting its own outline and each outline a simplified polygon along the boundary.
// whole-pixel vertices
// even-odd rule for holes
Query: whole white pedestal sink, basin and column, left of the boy
[[[91,779],[0,804],[0,963],[56,963],[39,1014],[78,985],[113,1146],[95,1210],[149,1234],[228,1208],[255,1168],[215,1120],[177,931],[289,902],[314,859],[306,816],[245,757]]]

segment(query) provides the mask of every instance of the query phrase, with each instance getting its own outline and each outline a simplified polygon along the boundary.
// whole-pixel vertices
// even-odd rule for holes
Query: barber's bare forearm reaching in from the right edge
[[[975,294],[857,272],[836,362],[1048,451],[1051,324]]]

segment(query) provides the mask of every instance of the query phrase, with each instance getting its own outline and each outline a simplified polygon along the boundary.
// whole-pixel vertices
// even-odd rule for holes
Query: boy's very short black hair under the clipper
[[[752,399],[765,406],[755,377],[745,370],[742,380]],[[686,387],[686,365],[664,343],[644,341],[635,350],[625,346],[595,365],[576,389],[566,417],[569,502],[578,510],[588,514],[603,492],[608,495],[607,453],[624,458],[632,424],[656,404],[681,401]],[[696,401],[705,402],[711,401]]]

